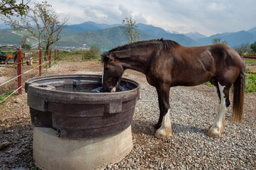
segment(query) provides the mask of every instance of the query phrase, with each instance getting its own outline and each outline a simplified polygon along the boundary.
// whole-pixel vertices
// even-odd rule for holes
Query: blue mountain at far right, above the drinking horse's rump
[[[245,30],[238,31],[236,33],[222,33],[211,35],[208,38],[199,38],[197,42],[201,45],[211,44],[214,38],[221,38],[221,41],[226,40],[230,47],[235,48],[243,43],[253,43],[256,40],[256,35],[249,33]]]

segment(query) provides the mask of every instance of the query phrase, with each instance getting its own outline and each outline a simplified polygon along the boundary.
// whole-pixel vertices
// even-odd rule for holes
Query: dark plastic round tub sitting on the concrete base
[[[140,93],[137,82],[122,78],[121,86],[128,91],[115,93],[58,90],[67,86],[96,88],[101,76],[67,74],[26,81],[33,125],[56,129],[59,137],[72,140],[115,135],[130,126]]]

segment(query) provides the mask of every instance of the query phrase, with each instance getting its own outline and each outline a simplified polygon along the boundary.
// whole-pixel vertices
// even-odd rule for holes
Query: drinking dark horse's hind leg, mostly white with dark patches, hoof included
[[[220,100],[218,115],[215,118],[213,124],[208,129],[207,134],[211,137],[221,137],[221,133],[225,128],[225,114],[228,106],[230,106],[230,101],[229,101],[230,86],[222,86],[220,83],[218,83],[218,86],[216,86],[216,89],[218,92],[217,94],[221,100]]]

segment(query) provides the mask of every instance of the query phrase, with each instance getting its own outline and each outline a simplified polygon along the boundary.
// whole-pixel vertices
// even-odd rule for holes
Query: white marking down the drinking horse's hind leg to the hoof
[[[221,103],[220,103],[220,108],[218,111],[218,115],[214,120],[213,125],[208,131],[208,135],[213,136],[213,137],[221,137],[221,132],[224,130],[224,125],[225,125],[225,113],[227,111],[226,107],[226,98],[224,96],[223,90],[225,89],[225,86],[221,86],[221,84],[218,83],[218,87],[221,92]]]

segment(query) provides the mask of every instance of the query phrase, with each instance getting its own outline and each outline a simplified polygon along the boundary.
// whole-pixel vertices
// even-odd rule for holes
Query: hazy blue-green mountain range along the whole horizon
[[[128,43],[124,31],[119,28],[119,24],[108,25],[94,22],[84,22],[81,24],[69,25],[62,30],[61,40],[55,46],[61,47],[83,47],[91,45],[104,45],[108,47],[116,47]],[[164,38],[165,40],[174,40],[185,46],[197,46],[211,44],[214,38],[221,38],[226,40],[230,47],[241,45],[242,43],[253,43],[256,41],[256,27],[250,30],[241,30],[236,33],[221,33],[206,37],[200,33],[169,33],[166,30],[138,23],[138,32],[140,33],[140,40],[151,40]],[[1,29],[6,27],[0,24],[0,44],[1,45],[19,45],[23,36],[22,31],[12,29]],[[36,45],[35,38],[29,38],[29,45]]]

